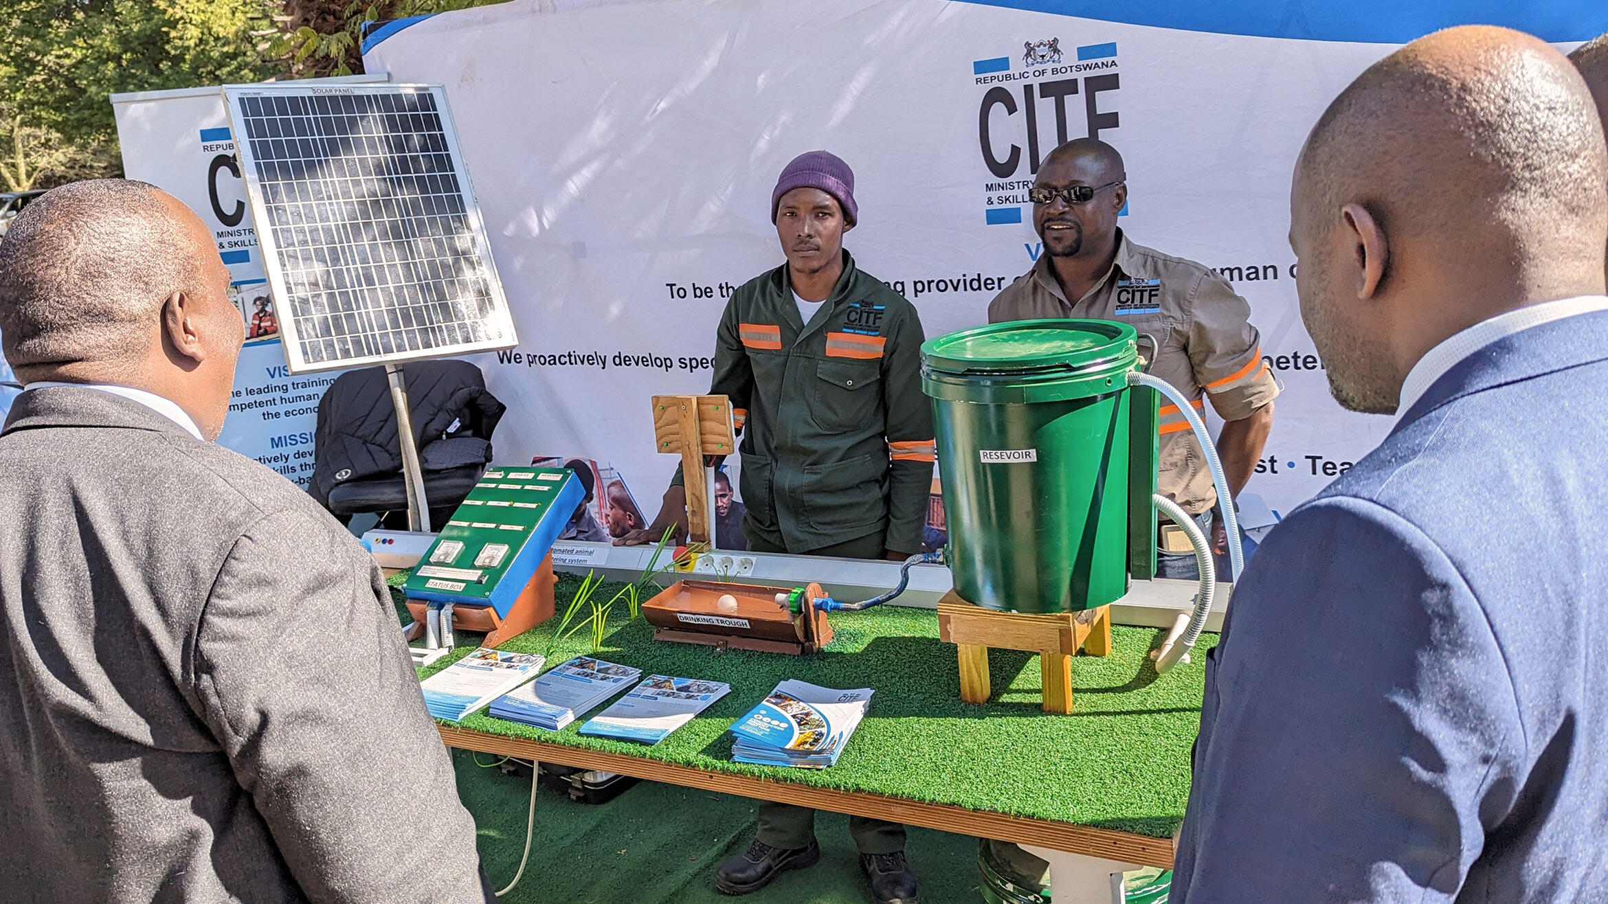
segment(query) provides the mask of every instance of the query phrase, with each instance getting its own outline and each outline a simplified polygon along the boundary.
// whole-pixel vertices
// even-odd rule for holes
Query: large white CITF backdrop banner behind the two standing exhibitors
[[[365,66],[450,95],[523,339],[471,359],[510,405],[502,462],[609,460],[651,516],[675,460],[648,397],[708,389],[727,296],[783,261],[769,199],[794,154],[854,167],[846,246],[936,336],[1037,256],[1037,161],[1098,135],[1127,161],[1126,233],[1249,301],[1285,384],[1249,489],[1286,512],[1391,426],[1330,399],[1286,230],[1307,129],[1393,47],[941,0],[526,0],[383,29]]]

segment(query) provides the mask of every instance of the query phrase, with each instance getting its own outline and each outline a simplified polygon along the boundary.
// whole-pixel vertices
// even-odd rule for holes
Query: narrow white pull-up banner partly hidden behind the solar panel
[[[384,76],[331,79],[383,82]],[[183,201],[217,240],[246,325],[219,442],[307,486],[318,399],[339,373],[291,376],[219,88],[111,95],[129,179]]]

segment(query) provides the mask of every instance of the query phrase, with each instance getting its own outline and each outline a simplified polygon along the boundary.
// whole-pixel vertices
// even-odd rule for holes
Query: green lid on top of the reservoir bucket
[[[1074,399],[1124,388],[1119,376],[1137,367],[1138,333],[1113,320],[991,323],[921,344],[923,384],[937,397]]]

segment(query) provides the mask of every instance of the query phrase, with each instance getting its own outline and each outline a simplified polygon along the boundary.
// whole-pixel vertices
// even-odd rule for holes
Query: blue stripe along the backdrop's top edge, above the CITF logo
[[[1602,0],[965,0],[982,6],[1031,10],[1134,26],[1192,32],[1407,43],[1450,26],[1507,26],[1555,43],[1590,40],[1608,32],[1608,3]],[[1087,26],[1079,26],[1087,27]],[[1090,35],[1093,37],[1093,35]],[[367,48],[365,48],[367,50]],[[1132,48],[1129,48],[1132,51]]]

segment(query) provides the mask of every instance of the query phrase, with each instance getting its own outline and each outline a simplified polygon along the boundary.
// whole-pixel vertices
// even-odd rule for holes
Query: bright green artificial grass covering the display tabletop
[[[579,579],[561,576],[560,616]],[[605,586],[598,598],[608,600]],[[503,643],[542,653],[547,668],[592,655],[580,631],[553,640],[560,618]],[[653,640],[640,616],[622,603],[608,626],[600,658],[643,674],[724,680],[732,693],[656,746],[577,733],[585,717],[560,732],[492,719],[484,711],[466,729],[579,748],[608,750],[846,791],[868,791],[1024,817],[1073,822],[1164,838],[1183,819],[1190,788],[1190,746],[1200,729],[1203,663],[1216,643],[1201,637],[1192,664],[1156,676],[1147,651],[1159,631],[1113,627],[1111,656],[1073,663],[1073,714],[1040,709],[1037,655],[994,650],[986,705],[960,701],[955,647],[937,640],[933,610],[878,606],[831,616],[833,642],[814,656],[745,650],[717,651]],[[473,634],[431,674],[473,650]],[[732,762],[727,729],[781,679],[825,687],[872,687],[870,713],[831,769],[783,769]]]

